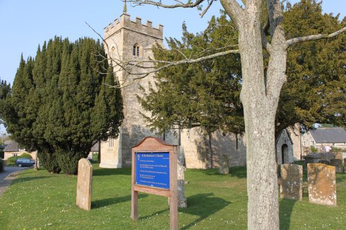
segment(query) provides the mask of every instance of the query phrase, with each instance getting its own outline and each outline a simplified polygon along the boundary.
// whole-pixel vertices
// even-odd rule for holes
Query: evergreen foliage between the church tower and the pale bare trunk
[[[237,30],[225,15],[218,19],[212,17],[208,28],[199,35],[190,34],[183,25],[182,41],[167,40],[170,50],[154,48],[155,59],[172,61],[202,57],[225,49],[225,42],[235,44],[233,36],[236,35]],[[220,37],[226,37],[227,41]],[[226,55],[198,64],[174,66],[160,71],[154,78],[155,85],[140,102],[152,112],[152,117],[146,118],[159,131],[176,127],[198,127],[206,134],[216,130],[244,131],[239,101],[239,56]]]

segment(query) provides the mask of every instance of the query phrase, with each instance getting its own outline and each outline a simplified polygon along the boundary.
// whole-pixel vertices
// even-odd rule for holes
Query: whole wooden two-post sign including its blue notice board
[[[170,229],[178,229],[176,146],[145,137],[132,148],[131,218],[138,220],[138,192],[170,198]]]

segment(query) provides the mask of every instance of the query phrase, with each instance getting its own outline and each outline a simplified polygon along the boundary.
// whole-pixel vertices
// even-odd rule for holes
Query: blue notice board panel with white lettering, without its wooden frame
[[[135,184],[170,189],[170,153],[135,153]]]

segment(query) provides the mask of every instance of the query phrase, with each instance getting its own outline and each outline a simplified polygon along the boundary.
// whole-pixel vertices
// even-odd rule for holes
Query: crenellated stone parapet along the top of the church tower
[[[131,21],[130,15],[123,13],[119,19],[115,19],[109,26],[104,28],[104,39],[111,37],[119,30],[130,30],[132,32],[143,33],[155,39],[163,39],[163,26],[158,24],[158,28],[152,27],[152,21],[147,21],[146,25],[142,24],[142,19],[136,17],[136,21]]]

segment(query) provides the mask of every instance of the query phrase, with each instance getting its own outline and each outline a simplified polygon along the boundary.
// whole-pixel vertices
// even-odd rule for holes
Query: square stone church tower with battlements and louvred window
[[[152,64],[140,64],[140,61],[153,59],[152,46],[160,44],[163,46],[163,26],[158,28],[152,26],[151,21],[142,24],[140,18],[131,21],[126,12],[126,3],[124,12],[120,19],[115,19],[104,28],[104,49],[107,57],[111,61],[116,77],[122,86],[122,100],[124,120],[120,128],[117,139],[109,139],[100,145],[101,162],[103,168],[121,168],[131,166],[131,147],[135,146],[147,135],[154,135],[146,126],[145,119],[140,113],[145,113],[140,106],[136,95],[140,95],[140,86],[148,88],[149,82],[152,82],[153,75],[144,79],[134,81],[136,75],[128,75],[125,70],[120,68],[116,62],[138,61],[138,66],[131,66],[131,72],[143,71],[141,67],[151,68]]]

